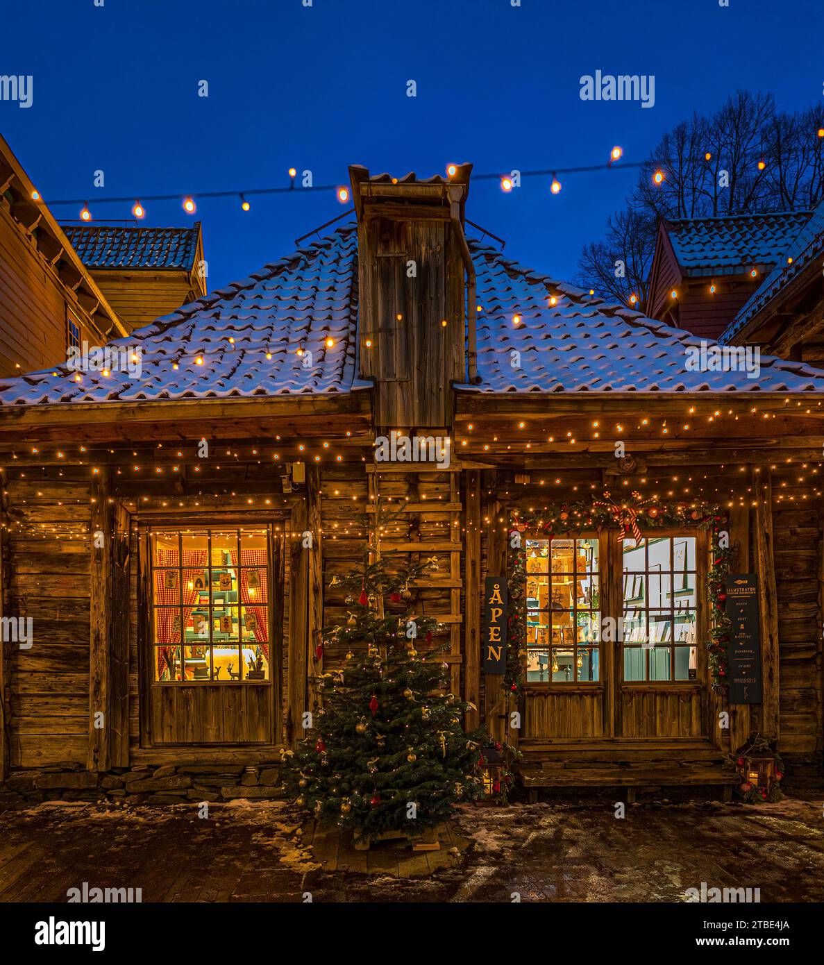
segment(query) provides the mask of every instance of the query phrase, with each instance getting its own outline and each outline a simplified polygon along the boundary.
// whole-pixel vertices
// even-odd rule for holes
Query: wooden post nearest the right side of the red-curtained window
[[[291,512],[289,538],[289,620],[288,620],[288,719],[287,741],[295,744],[304,736],[303,714],[307,707],[309,551],[303,548],[303,534],[309,525],[306,501]]]

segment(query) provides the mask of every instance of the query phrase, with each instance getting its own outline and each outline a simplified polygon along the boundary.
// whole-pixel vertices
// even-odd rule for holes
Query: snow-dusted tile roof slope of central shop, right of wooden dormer
[[[824,391],[824,372],[774,356],[761,356],[755,378],[740,369],[690,371],[687,348],[702,343],[689,332],[521,267],[476,240],[470,248],[481,305],[481,383],[458,386],[462,391]],[[557,298],[554,306],[549,304],[552,295]]]

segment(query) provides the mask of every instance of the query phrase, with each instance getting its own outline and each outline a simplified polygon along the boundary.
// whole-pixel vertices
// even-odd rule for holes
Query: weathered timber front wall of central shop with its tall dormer
[[[69,787],[99,791],[102,776],[112,774],[120,792],[126,774],[125,788],[176,799],[203,794],[197,775],[214,771],[218,785],[225,778],[224,797],[234,785],[237,796],[276,794],[262,784],[263,770],[306,732],[306,714],[321,702],[318,674],[345,664],[345,653],[322,646],[320,632],[346,620],[334,578],[378,545],[434,559],[436,568],[410,588],[415,611],[438,619],[432,646],[450,666],[453,693],[475,708],[467,727],[484,724],[516,744],[531,791],[728,788],[724,755],[751,731],[778,741],[790,773],[820,776],[820,395],[763,391],[754,400],[743,392],[661,391],[640,401],[632,392],[475,392],[476,295],[468,294],[474,276],[461,253],[468,173],[455,184],[404,184],[355,169],[352,180],[360,219],[358,372],[373,380],[371,388],[0,407],[2,614],[34,620],[34,646],[7,642],[0,663],[4,777],[59,787],[37,772],[64,765],[74,775]],[[398,268],[407,260],[423,268],[423,294],[410,290]],[[492,295],[477,298],[488,305]],[[399,325],[407,317],[414,331]],[[452,458],[376,459],[382,433],[418,427],[448,434]],[[212,447],[206,459],[202,440]],[[616,458],[618,441],[631,457]],[[483,580],[506,575],[521,552],[510,539],[514,516],[635,489],[661,504],[700,499],[728,519],[733,571],[757,577],[760,703],[730,705],[710,687],[710,547],[698,525],[673,537],[695,546],[689,676],[625,679],[620,643],[605,641],[597,678],[527,673],[512,690],[482,673]],[[384,510],[396,510],[388,522]],[[238,556],[221,549],[218,564],[208,543],[208,562],[198,565],[214,587],[220,566],[244,565],[243,528],[268,547],[246,564],[262,568],[265,559],[265,678],[190,678],[184,667],[179,679],[158,679],[159,660],[174,677],[174,661],[161,651],[178,645],[155,639],[154,611],[173,604],[158,599],[152,570],[162,564],[153,534],[240,533]],[[603,615],[618,616],[625,605],[617,536],[612,527],[588,533]],[[199,573],[175,559],[169,571],[179,576],[166,586],[178,593]],[[249,609],[238,593],[240,602],[227,597],[222,606]],[[182,625],[195,604],[174,599]],[[209,621],[213,640],[213,609]],[[244,769],[257,776],[241,785]]]

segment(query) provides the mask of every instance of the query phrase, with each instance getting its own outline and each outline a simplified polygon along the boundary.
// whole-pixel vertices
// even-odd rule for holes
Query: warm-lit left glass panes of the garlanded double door
[[[527,680],[599,679],[598,538],[525,539]]]

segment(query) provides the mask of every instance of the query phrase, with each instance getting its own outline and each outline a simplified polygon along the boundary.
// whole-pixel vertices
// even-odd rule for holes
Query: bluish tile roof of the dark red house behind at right
[[[776,264],[810,220],[811,211],[668,220],[667,234],[684,275],[735,274]]]

